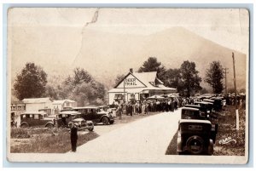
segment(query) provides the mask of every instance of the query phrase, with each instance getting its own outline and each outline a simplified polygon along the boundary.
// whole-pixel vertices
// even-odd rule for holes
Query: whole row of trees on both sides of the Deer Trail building
[[[202,78],[196,70],[195,62],[186,60],[179,68],[166,69],[155,57],[149,57],[143,62],[138,72],[157,71],[157,77],[165,86],[177,88],[177,92],[184,96],[190,96],[200,90]],[[73,75],[67,76],[63,82],[50,85],[48,75],[42,67],[34,63],[26,63],[26,66],[17,74],[14,84],[14,95],[18,100],[25,98],[50,97],[54,100],[70,99],[78,102],[78,105],[104,104],[107,90],[102,83],[97,82],[84,68],[75,68]],[[115,83],[119,83],[125,75],[118,75]],[[219,61],[213,61],[206,71],[204,81],[208,83],[213,93],[223,91],[224,74]]]

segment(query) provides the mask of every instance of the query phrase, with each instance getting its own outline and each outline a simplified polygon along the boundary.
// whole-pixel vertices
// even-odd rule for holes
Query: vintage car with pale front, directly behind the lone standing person
[[[79,130],[88,129],[93,131],[94,125],[91,121],[85,121],[79,111],[61,111],[57,114],[57,126],[68,127],[68,123],[74,123]]]

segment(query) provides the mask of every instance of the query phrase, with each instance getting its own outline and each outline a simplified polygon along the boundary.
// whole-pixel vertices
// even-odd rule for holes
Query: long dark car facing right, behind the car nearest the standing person
[[[74,107],[72,111],[80,111],[86,121],[93,123],[113,124],[114,119],[108,111],[102,111],[98,106]]]

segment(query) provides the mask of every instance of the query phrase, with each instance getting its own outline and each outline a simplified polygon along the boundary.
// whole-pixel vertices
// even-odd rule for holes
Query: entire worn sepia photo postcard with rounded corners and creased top
[[[10,162],[245,164],[247,9],[11,8]]]

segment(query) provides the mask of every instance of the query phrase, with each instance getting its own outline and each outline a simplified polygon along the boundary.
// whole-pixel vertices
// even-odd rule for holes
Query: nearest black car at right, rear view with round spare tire
[[[179,155],[212,155],[212,124],[207,120],[181,119],[177,131],[177,153]]]

